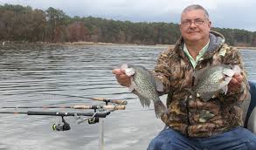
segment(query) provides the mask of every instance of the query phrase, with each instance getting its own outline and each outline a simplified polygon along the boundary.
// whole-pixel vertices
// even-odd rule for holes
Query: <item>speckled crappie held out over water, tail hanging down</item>
[[[129,90],[135,93],[142,106],[149,106],[154,102],[156,118],[160,118],[167,109],[158,96],[157,91],[163,92],[163,83],[154,78],[146,68],[141,65],[121,65],[121,70],[131,77]]]

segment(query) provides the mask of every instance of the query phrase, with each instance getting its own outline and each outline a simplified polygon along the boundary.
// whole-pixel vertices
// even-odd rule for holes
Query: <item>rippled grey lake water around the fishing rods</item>
[[[111,71],[125,63],[153,69],[156,58],[166,48],[135,45],[0,47],[0,107],[104,105],[86,98],[126,99],[126,110],[115,111],[104,119],[105,149],[146,149],[149,141],[163,129],[163,122],[156,119],[152,105],[143,108],[134,94],[118,85]],[[256,80],[256,51],[242,50],[241,53],[249,79]],[[165,101],[166,97],[161,99]],[[52,124],[60,120],[54,116],[0,114],[0,149],[99,149],[98,124],[78,125],[73,117],[66,117],[72,129],[52,131]]]

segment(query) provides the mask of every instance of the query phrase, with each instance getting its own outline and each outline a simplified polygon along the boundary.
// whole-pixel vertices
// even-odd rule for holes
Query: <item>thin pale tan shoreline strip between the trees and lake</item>
[[[120,45],[114,43],[103,43],[103,42],[63,42],[63,43],[48,43],[48,42],[37,42],[37,43],[16,43],[16,42],[8,42],[2,43],[3,45]],[[174,47],[174,44],[123,44],[123,45],[149,45],[149,46],[164,46],[164,47]],[[256,50],[256,47],[242,47],[242,46],[234,46],[239,50]]]

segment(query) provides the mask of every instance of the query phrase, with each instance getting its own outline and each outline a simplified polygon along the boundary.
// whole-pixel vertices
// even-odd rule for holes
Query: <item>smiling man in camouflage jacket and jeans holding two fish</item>
[[[181,15],[182,37],[174,49],[164,51],[154,74],[168,94],[169,113],[162,116],[167,127],[149,144],[149,150],[172,149],[256,149],[256,135],[241,127],[240,107],[248,94],[246,72],[237,49],[225,44],[225,37],[211,31],[208,12],[190,5]],[[203,101],[185,89],[193,86],[192,72],[211,65],[239,65],[228,85],[228,92]],[[129,86],[130,78],[115,69],[120,85]]]

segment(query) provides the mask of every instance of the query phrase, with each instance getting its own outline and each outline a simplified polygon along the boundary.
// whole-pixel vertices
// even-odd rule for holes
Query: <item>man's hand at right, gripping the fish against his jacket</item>
[[[243,82],[244,76],[241,73],[235,73],[232,77],[232,80],[228,84],[229,91],[238,91]]]

